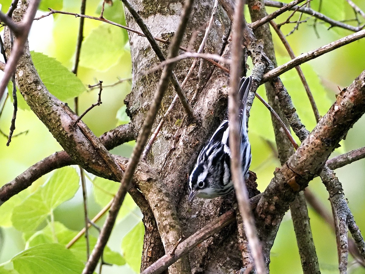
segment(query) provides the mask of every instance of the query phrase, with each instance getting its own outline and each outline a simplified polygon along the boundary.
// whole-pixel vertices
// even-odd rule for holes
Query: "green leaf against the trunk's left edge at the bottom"
[[[124,236],[122,240],[122,248],[124,251],[124,259],[128,265],[139,273],[141,268],[141,258],[143,249],[143,236],[145,235],[145,226],[143,222],[139,222],[130,232]]]

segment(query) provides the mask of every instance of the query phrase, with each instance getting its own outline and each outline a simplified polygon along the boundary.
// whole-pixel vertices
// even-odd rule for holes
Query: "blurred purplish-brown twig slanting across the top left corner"
[[[26,14],[24,14],[22,22],[17,24],[15,30],[13,29],[13,32],[16,35],[17,39],[14,41],[14,47],[12,48],[10,57],[5,66],[3,79],[1,79],[0,82],[0,98],[3,97],[5,88],[9,80],[11,79],[11,76],[14,74],[16,64],[18,64],[19,58],[23,54],[24,45],[27,41],[30,27],[32,26],[33,19],[35,13],[37,12],[40,1],[41,0],[34,0],[30,2]],[[2,13],[0,12],[0,14]],[[6,18],[9,17],[6,16]],[[1,18],[1,20],[3,20],[3,18]]]

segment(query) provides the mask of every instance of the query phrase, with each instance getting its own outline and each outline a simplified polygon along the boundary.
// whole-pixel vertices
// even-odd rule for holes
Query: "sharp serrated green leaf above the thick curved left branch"
[[[86,91],[81,80],[55,58],[33,51],[31,56],[43,83],[59,100],[66,101]]]

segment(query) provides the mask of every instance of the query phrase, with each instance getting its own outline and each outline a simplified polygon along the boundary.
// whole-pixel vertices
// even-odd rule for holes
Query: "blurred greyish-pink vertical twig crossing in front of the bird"
[[[249,197],[241,163],[241,137],[239,136],[239,99],[238,83],[242,67],[242,30],[243,30],[243,8],[244,0],[238,0],[235,4],[232,27],[232,65],[230,73],[230,90],[228,96],[228,118],[230,122],[229,142],[231,149],[231,174],[234,190],[237,197],[239,212],[243,219],[247,240],[250,244],[251,254],[257,273],[267,273],[261,243],[257,236],[253,214],[250,210]],[[246,121],[243,121],[246,123]]]

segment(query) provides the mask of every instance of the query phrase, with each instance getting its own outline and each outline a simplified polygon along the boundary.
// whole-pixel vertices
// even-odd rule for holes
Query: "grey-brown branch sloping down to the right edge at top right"
[[[265,6],[268,6],[268,7],[281,8],[281,7],[284,7],[285,5],[287,5],[287,4],[282,3],[282,2],[278,2],[278,1],[265,0]],[[357,32],[359,30],[362,30],[362,28],[364,27],[364,26],[354,27],[354,26],[351,26],[349,24],[345,24],[343,22],[333,20],[332,18],[329,18],[326,15],[321,14],[320,12],[315,11],[314,9],[311,9],[311,8],[308,8],[308,7],[295,6],[295,7],[292,7],[291,10],[293,10],[293,11],[297,10],[299,12],[303,12],[305,14],[314,16],[315,18],[330,24],[330,27],[341,27],[341,28],[344,28],[346,30],[350,30],[350,31],[353,31],[353,32]]]

